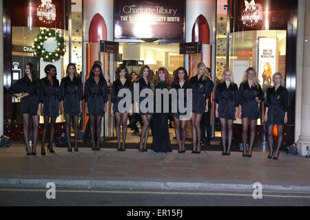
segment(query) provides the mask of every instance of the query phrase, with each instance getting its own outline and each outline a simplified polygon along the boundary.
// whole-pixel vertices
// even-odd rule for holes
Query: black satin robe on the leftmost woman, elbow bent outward
[[[8,89],[8,93],[14,95],[21,92],[28,93],[29,96],[25,96],[21,100],[21,113],[37,115],[39,109],[39,103],[42,102],[43,94],[41,89],[41,83],[35,87],[28,76],[19,79],[14,85]]]

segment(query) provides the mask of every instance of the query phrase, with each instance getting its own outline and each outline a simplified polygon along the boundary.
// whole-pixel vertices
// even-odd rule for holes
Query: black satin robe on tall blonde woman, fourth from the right
[[[203,81],[203,76],[198,75],[190,78],[189,83],[193,89],[193,113],[203,114],[205,112],[205,100],[211,96],[208,80]]]

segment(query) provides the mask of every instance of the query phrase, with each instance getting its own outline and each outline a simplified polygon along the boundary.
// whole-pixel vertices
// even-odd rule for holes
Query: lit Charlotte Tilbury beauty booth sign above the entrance
[[[185,39],[185,0],[114,1],[115,41]]]

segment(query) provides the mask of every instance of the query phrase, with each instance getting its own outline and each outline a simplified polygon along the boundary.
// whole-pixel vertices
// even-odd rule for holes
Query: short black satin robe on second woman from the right
[[[241,118],[256,120],[262,117],[260,107],[258,102],[256,102],[256,97],[258,97],[258,100],[261,100],[262,102],[265,100],[264,93],[259,84],[258,86],[253,84],[251,88],[249,87],[249,83],[247,81],[240,84],[239,103],[241,105]]]

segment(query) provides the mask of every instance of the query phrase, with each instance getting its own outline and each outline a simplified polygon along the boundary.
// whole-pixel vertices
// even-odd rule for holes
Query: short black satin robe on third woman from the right
[[[216,88],[214,102],[218,104],[218,118],[236,120],[236,107],[238,107],[238,86],[231,83],[227,88],[226,83],[220,83]]]

